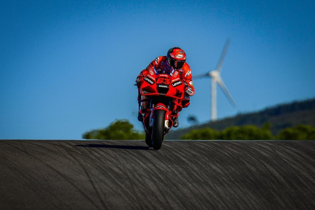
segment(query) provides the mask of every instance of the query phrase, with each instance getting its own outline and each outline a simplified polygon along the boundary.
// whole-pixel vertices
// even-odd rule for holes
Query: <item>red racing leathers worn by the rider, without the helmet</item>
[[[140,75],[137,78],[145,77],[147,75],[149,69],[153,69],[153,71],[156,74],[157,73],[166,73],[166,74],[172,73],[172,74],[174,74],[175,71],[177,71],[178,74],[180,75],[180,79],[186,85],[186,88],[185,88],[186,92],[185,92],[184,100],[182,101],[183,108],[186,108],[189,106],[189,104],[190,104],[189,96],[192,96],[195,93],[195,88],[192,85],[192,70],[190,69],[190,67],[187,63],[185,63],[181,69],[173,70],[170,67],[170,65],[168,64],[166,56],[157,57],[155,60],[153,60],[146,67],[145,70],[142,70],[140,72]],[[141,100],[141,95],[139,92],[138,101],[140,101],[140,100]]]

